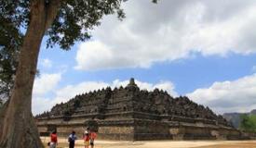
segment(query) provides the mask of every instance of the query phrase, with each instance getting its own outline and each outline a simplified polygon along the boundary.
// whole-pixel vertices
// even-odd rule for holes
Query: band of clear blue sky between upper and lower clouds
[[[249,56],[230,54],[226,57],[204,57],[198,54],[188,59],[155,63],[151,68],[83,71],[74,69],[75,53],[75,46],[70,51],[59,48],[42,50],[39,59],[49,59],[53,67],[45,68],[39,63],[40,72],[55,73],[61,71],[60,66],[66,66],[60,87],[86,80],[111,82],[116,79],[128,80],[131,77],[151,83],[170,80],[175,83],[176,92],[182,95],[191,93],[197,88],[209,87],[214,81],[236,80],[250,75],[254,73],[252,68],[256,65],[256,54]]]

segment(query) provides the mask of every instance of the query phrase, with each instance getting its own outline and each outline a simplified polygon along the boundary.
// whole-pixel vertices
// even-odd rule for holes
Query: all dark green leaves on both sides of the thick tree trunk
[[[54,0],[45,0],[49,6]],[[127,0],[61,0],[52,25],[47,28],[47,47],[58,44],[64,50],[77,41],[88,40],[89,33],[101,24],[105,15],[117,14],[124,19],[120,7]],[[157,3],[158,0],[152,0]],[[3,0],[0,3],[0,96],[8,97],[13,87],[20,46],[24,32],[30,25],[29,0]]]

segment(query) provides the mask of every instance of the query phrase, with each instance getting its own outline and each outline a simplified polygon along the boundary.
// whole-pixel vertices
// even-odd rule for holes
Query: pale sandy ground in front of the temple
[[[42,138],[45,144],[48,138]],[[83,141],[75,142],[75,148],[83,148]],[[59,139],[58,148],[68,147],[66,139]],[[256,141],[150,141],[118,142],[96,141],[94,148],[256,148]]]

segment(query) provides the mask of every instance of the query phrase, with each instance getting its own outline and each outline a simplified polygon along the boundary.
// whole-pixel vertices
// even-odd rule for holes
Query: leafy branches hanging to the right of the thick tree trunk
[[[125,18],[120,8],[122,0],[66,0],[52,26],[47,31],[47,46],[59,44],[62,49],[70,49],[76,41],[90,38],[89,30],[101,24],[104,15],[117,14]],[[60,35],[61,34],[61,35]]]

